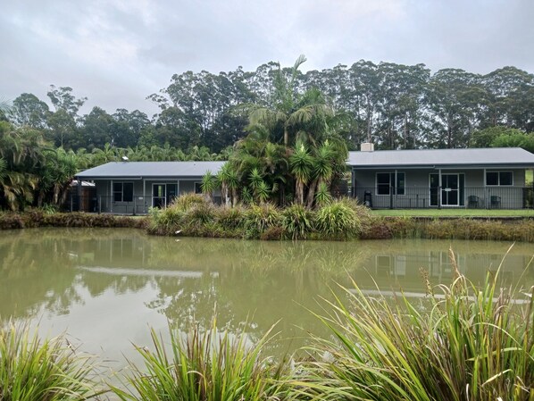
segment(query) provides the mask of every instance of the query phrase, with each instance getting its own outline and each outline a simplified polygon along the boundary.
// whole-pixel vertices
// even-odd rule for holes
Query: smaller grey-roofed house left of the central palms
[[[71,205],[98,213],[144,214],[150,207],[165,207],[181,194],[200,193],[202,177],[225,162],[111,162],[81,171],[79,182],[95,183],[93,199],[86,202],[81,188]],[[215,194],[217,195],[217,194]],[[84,205],[90,205],[88,210]],[[76,210],[76,209],[74,209]]]

